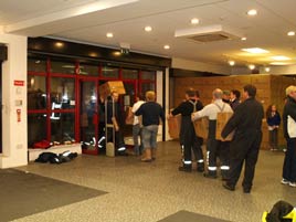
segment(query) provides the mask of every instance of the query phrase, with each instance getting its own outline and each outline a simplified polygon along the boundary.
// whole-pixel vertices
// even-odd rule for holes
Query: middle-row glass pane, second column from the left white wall
[[[75,80],[65,77],[51,77],[51,107],[75,107]]]

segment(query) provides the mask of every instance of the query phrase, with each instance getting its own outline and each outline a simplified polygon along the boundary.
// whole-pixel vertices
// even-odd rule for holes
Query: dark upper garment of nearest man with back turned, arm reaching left
[[[236,107],[233,116],[230,118],[221,136],[226,136],[235,129],[235,135],[249,135],[246,133],[262,131],[262,119],[264,109],[255,98],[247,98]]]

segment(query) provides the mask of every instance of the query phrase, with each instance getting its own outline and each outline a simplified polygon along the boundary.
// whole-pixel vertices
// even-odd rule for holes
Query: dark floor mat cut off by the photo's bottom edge
[[[172,215],[169,215],[158,222],[230,222],[221,219],[211,218],[208,215],[201,215],[188,211],[179,211]]]

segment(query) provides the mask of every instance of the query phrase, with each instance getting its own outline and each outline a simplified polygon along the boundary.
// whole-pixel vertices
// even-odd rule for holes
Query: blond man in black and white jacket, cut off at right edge
[[[284,136],[287,140],[287,151],[283,166],[283,184],[296,187],[296,86],[286,88],[286,104],[283,112]]]

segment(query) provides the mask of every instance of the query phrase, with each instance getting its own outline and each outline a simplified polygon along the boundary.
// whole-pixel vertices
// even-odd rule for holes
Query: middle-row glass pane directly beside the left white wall
[[[46,108],[46,77],[38,75],[28,76],[28,109]]]

